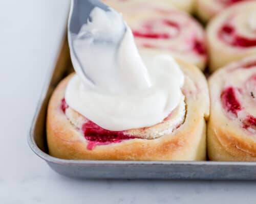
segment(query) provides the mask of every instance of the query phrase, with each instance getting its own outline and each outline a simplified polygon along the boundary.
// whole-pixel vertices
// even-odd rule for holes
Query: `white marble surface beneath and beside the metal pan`
[[[29,125],[68,0],[0,1],[0,203],[255,203],[254,182],[78,181],[33,154]]]

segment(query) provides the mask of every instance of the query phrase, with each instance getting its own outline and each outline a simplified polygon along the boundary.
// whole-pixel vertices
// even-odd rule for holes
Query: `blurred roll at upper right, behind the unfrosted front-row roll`
[[[229,7],[209,23],[211,71],[256,53],[255,10],[256,1],[242,2]]]

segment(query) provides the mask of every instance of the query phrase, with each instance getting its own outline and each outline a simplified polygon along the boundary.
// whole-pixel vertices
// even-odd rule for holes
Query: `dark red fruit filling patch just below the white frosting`
[[[134,139],[134,136],[126,135],[124,131],[108,131],[98,126],[92,121],[82,125],[84,137],[88,140],[88,149],[93,149],[96,145],[119,143],[123,140]]]

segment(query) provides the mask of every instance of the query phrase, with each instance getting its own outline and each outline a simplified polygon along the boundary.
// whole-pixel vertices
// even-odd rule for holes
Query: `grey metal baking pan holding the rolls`
[[[47,77],[28,136],[31,149],[54,171],[84,179],[256,180],[255,162],[91,161],[51,157],[46,144],[49,98],[61,79],[73,71],[67,39],[63,39],[56,66]]]

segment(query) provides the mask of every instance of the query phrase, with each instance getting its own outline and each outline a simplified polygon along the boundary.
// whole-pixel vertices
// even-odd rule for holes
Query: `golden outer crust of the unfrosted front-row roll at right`
[[[256,65],[255,57],[232,63],[221,68],[209,78],[211,114],[207,124],[207,150],[210,160],[256,161],[255,134],[241,126],[241,119],[229,118],[220,99],[224,81],[228,79],[230,72],[241,69],[242,65],[253,61]],[[244,70],[249,71],[248,68]],[[255,68],[251,70],[251,73],[256,74]],[[240,72],[240,78],[243,75]]]

